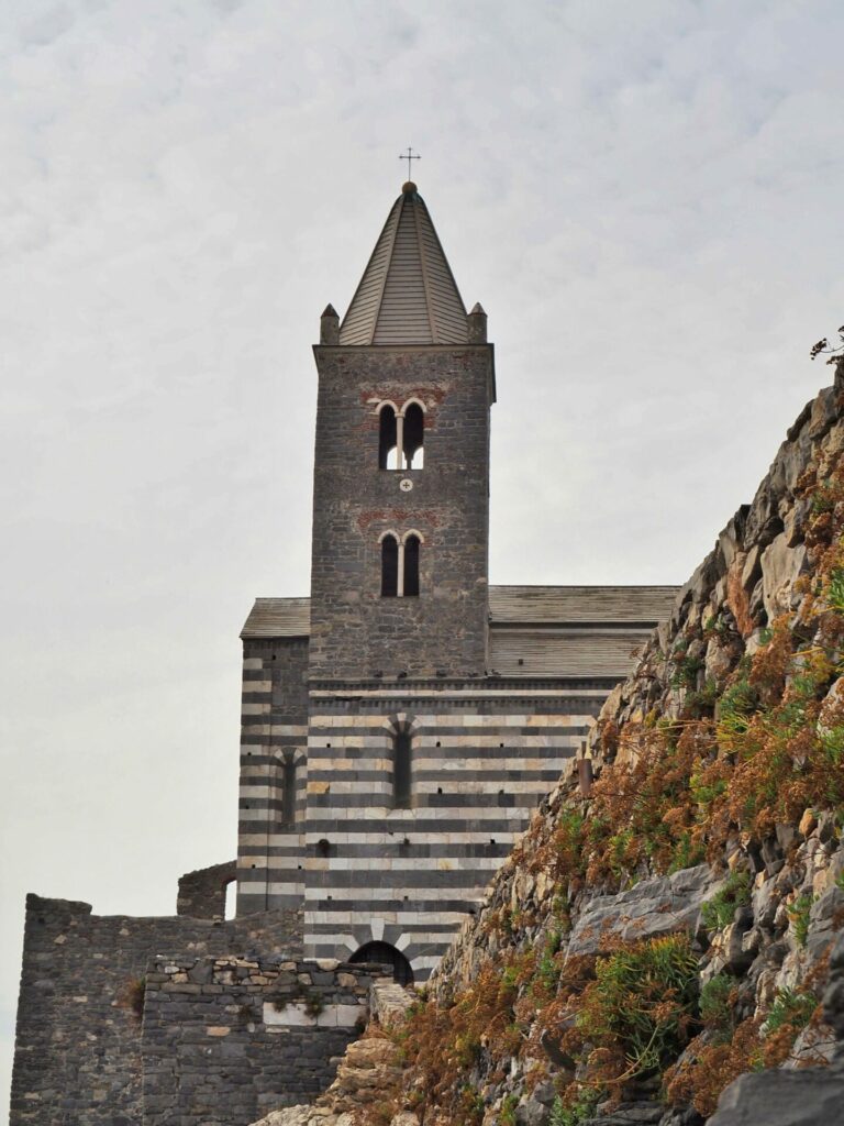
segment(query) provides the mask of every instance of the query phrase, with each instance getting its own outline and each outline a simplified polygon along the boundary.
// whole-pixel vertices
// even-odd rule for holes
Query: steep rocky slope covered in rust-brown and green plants
[[[425,997],[275,1121],[844,1123],[843,452],[839,365]]]

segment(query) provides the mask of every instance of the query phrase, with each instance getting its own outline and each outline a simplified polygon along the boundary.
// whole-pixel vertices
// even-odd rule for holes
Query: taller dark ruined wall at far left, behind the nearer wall
[[[27,896],[11,1126],[129,1126],[141,1119],[141,1025],[133,1004],[151,957],[186,951],[295,956],[296,912],[214,923],[95,915]]]

